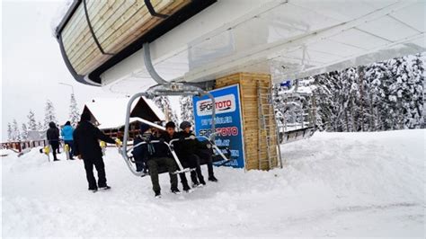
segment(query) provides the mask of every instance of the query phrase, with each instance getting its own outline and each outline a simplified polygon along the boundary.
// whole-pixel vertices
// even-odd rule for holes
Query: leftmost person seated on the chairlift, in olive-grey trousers
[[[141,165],[140,162],[145,163],[148,173],[151,176],[155,198],[161,198],[161,188],[158,181],[158,168],[164,165],[170,175],[171,190],[174,194],[178,194],[180,193],[180,190],[177,188],[177,175],[175,174],[177,165],[173,158],[169,157],[169,149],[164,143],[162,143],[164,142],[164,139],[155,137],[151,128],[152,127],[149,125],[142,123],[139,126],[139,135],[133,141],[135,146],[140,142],[146,142],[146,144],[138,146],[132,151],[132,154],[135,157],[135,162],[137,162],[137,171],[141,170],[141,167],[138,167],[138,164]],[[153,140],[159,140],[160,142],[150,143]]]

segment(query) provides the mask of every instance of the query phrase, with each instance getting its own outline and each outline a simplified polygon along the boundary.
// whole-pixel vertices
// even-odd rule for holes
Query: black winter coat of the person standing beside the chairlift
[[[102,133],[99,128],[89,121],[81,121],[74,130],[74,155],[81,155],[84,159],[97,159],[102,157],[99,140],[115,144],[114,139]]]

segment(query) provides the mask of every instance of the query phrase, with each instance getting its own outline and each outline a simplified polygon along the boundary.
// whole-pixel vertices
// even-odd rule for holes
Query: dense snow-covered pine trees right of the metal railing
[[[318,128],[422,128],[424,58],[422,53],[315,75]]]

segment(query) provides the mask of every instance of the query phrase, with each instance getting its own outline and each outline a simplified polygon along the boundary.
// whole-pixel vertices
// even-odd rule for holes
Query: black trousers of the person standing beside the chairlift
[[[89,184],[89,190],[96,190],[102,187],[106,187],[106,177],[105,177],[105,164],[103,164],[102,157],[97,159],[83,159],[85,176]],[[93,175],[93,165],[98,172],[98,183],[96,185],[96,179]]]

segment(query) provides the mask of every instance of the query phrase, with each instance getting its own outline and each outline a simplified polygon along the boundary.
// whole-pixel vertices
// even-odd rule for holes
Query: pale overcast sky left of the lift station
[[[67,121],[71,87],[79,109],[93,97],[116,94],[75,82],[68,72],[51,31],[64,1],[4,1],[2,7],[2,142],[7,139],[7,123],[16,119],[27,123],[30,110],[43,123],[49,99],[59,123]],[[56,24],[53,24],[56,25]]]

